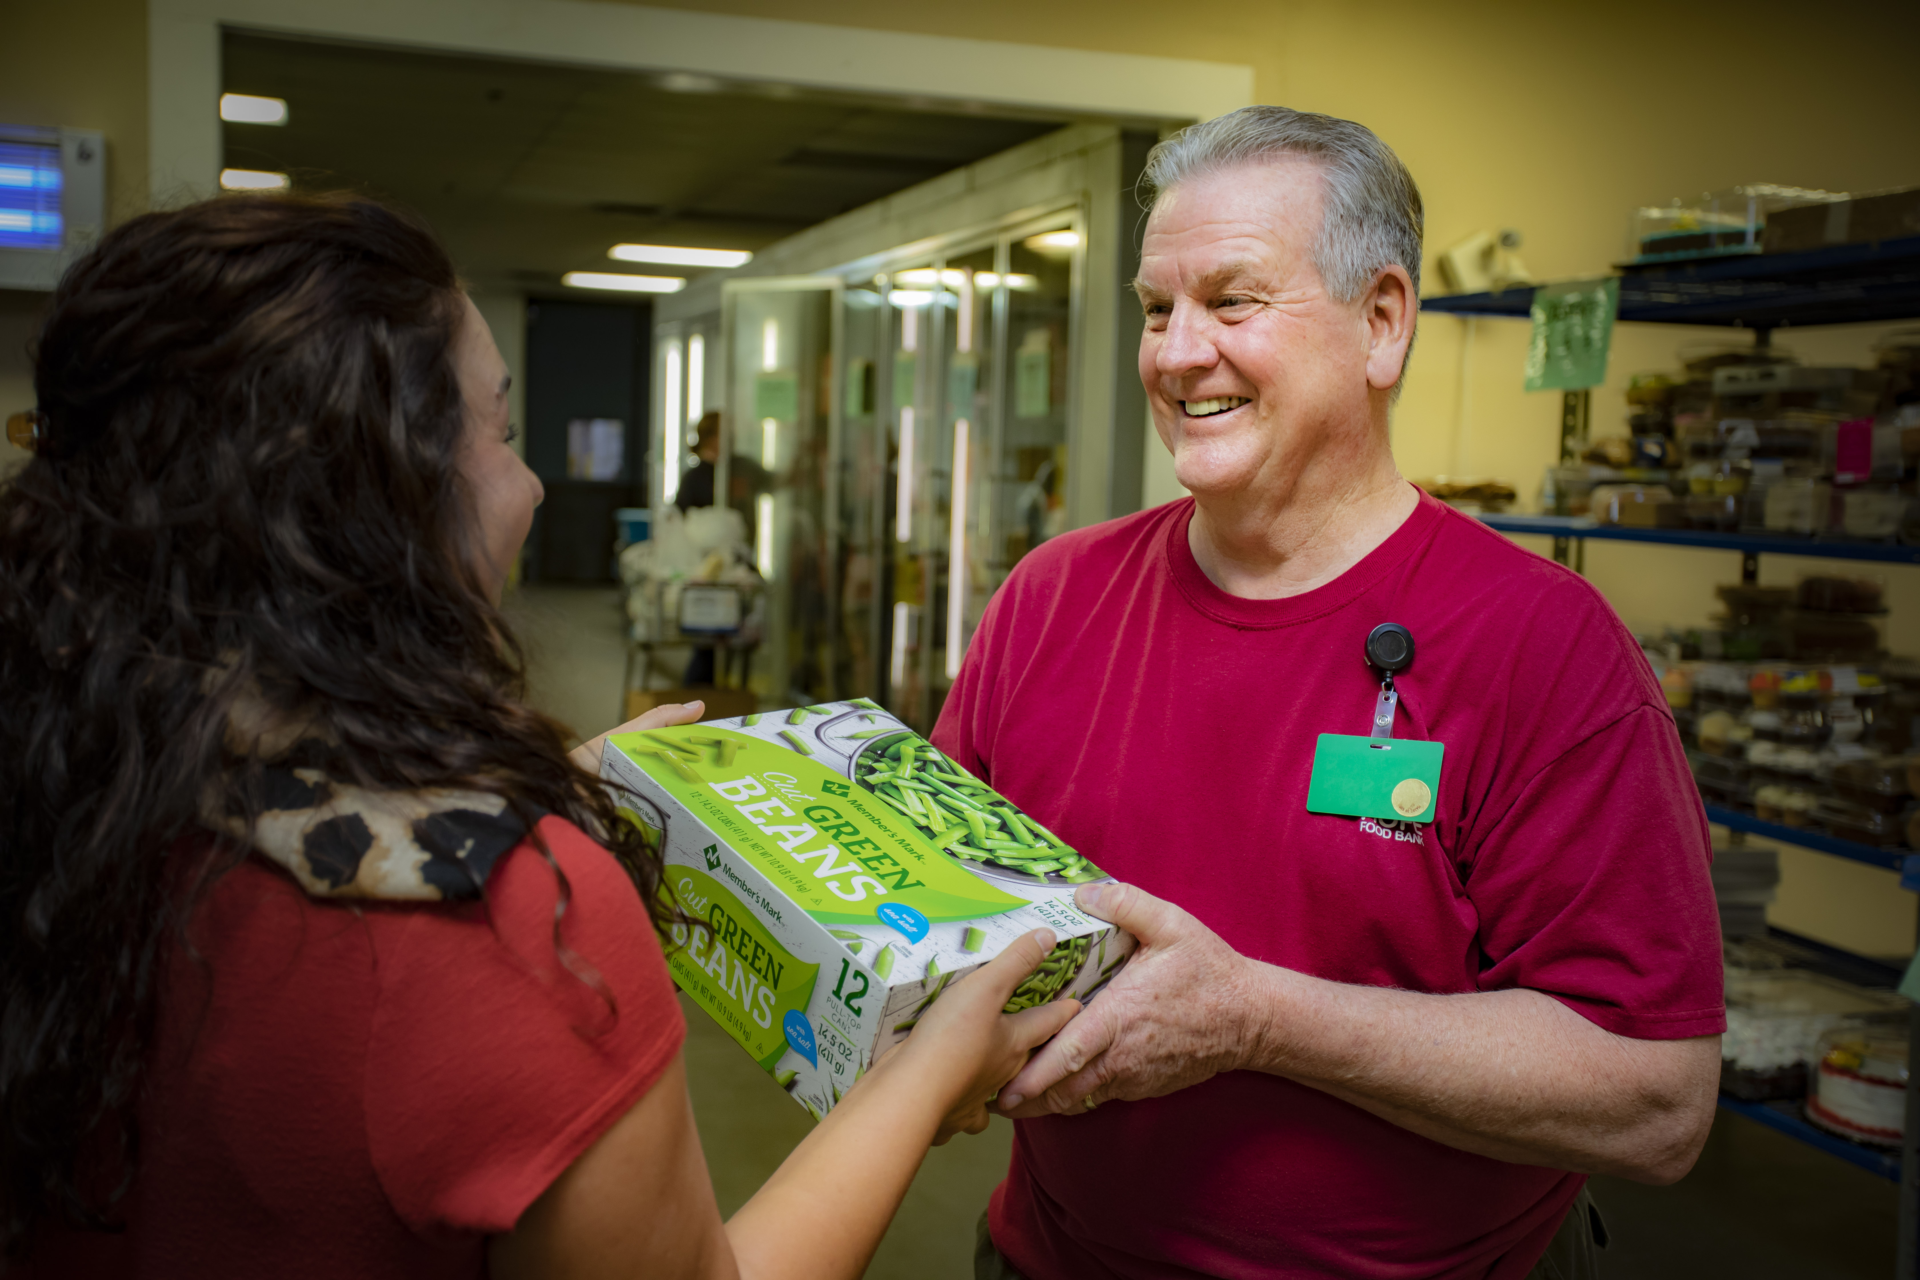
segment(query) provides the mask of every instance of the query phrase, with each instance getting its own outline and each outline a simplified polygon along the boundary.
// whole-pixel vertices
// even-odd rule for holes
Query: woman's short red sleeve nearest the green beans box
[[[367,1140],[422,1236],[499,1234],[659,1080],[685,1038],[634,883],[547,818],[488,879],[486,912],[419,912],[380,956]],[[588,981],[582,981],[586,975]],[[599,990],[591,983],[599,979]]]

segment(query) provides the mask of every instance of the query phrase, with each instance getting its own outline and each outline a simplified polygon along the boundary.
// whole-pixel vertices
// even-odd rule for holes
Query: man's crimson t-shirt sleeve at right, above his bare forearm
[[[1473,850],[1480,988],[1636,1040],[1726,1031],[1711,858],[1670,718],[1628,712],[1540,768]]]

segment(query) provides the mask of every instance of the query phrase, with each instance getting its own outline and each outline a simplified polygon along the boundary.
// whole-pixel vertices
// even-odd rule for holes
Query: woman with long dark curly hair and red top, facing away
[[[497,608],[505,390],[367,200],[150,213],[54,294],[0,489],[0,1270],[852,1276],[1071,1015],[1000,1015],[1021,940],[722,1224],[659,854]]]

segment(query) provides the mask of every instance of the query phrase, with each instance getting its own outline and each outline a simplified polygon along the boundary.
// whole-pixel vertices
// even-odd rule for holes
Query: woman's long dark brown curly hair
[[[259,812],[223,745],[244,691],[319,723],[348,781],[572,819],[664,921],[657,854],[526,704],[468,568],[461,317],[432,232],[348,196],[132,219],[52,297],[44,438],[0,489],[10,1253],[52,1215],[108,1222],[132,1176],[167,950],[244,856],[209,858],[198,816]]]

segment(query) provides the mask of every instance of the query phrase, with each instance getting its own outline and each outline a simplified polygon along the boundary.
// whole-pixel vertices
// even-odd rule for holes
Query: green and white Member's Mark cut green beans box
[[[1008,1009],[1133,954],[1073,906],[1100,867],[866,699],[614,735],[601,777],[699,921],[674,981],[814,1117],[1020,935],[1060,944]]]

